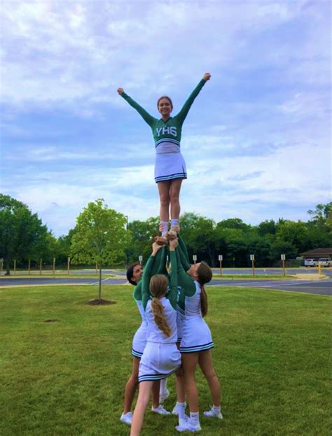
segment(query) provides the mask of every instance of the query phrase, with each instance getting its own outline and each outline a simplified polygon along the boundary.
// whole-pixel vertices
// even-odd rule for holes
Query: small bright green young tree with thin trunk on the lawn
[[[126,217],[103,204],[104,199],[90,202],[76,218],[71,238],[73,263],[99,265],[99,302],[102,294],[102,265],[125,257],[128,233]]]

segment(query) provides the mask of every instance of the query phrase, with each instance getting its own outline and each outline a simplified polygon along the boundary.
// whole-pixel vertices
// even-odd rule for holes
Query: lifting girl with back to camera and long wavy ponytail
[[[174,251],[176,246],[177,239],[170,241],[171,273],[168,293],[168,281],[164,275],[153,276],[149,283],[148,269],[145,267],[143,272],[142,303],[148,327],[146,347],[139,363],[139,395],[130,436],[140,435],[153,381],[165,379],[181,365],[181,355],[177,349],[177,258]],[[160,246],[154,243],[152,247],[151,257],[154,257]],[[150,295],[153,297],[152,300]]]

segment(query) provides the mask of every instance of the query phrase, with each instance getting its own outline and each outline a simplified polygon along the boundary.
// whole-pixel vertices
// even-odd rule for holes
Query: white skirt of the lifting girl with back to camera
[[[139,382],[165,379],[181,365],[181,354],[175,343],[147,342],[139,363]]]

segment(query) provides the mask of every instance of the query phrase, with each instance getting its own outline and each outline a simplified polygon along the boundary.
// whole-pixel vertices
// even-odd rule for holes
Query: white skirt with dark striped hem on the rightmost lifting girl
[[[186,316],[182,324],[181,353],[195,353],[212,349],[211,331],[201,316]]]

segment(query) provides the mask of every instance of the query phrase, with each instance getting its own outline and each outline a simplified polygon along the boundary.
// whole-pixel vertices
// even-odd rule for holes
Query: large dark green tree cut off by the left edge
[[[11,262],[34,257],[47,244],[48,230],[36,213],[26,204],[0,194],[0,257],[6,263],[6,275]]]

